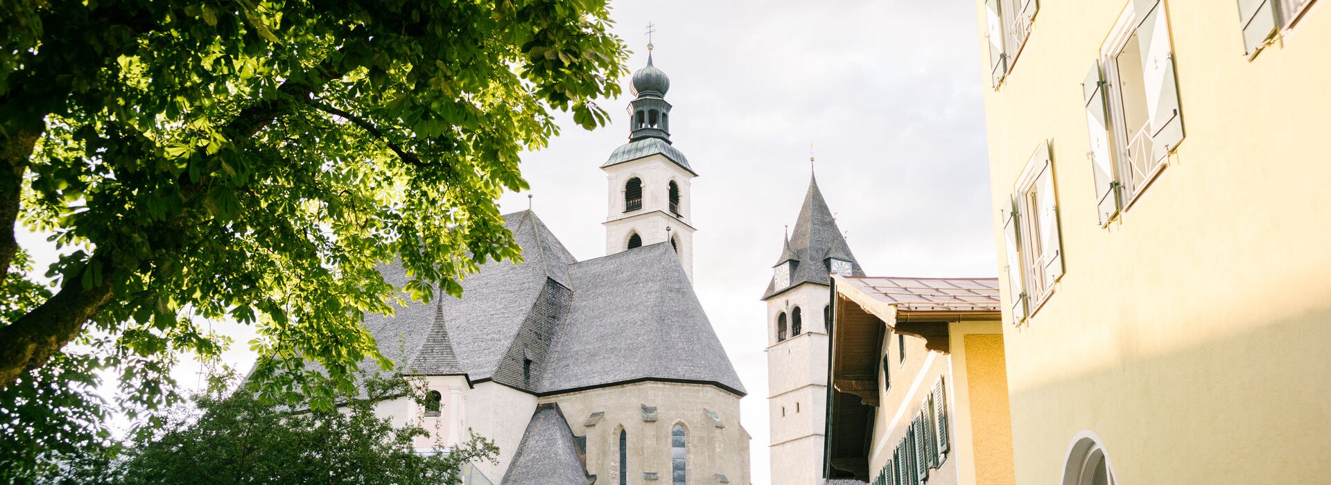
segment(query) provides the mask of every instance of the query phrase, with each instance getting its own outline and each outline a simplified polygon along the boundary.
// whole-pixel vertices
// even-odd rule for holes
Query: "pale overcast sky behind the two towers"
[[[994,276],[980,44],[972,1],[619,1],[619,36],[671,78],[671,140],[692,185],[693,286],[748,388],[753,484],[769,482],[765,306],[809,183],[869,275]],[[536,214],[578,259],[604,255],[606,173],[628,137],[564,122],[523,158]],[[527,209],[510,194],[503,210]]]

